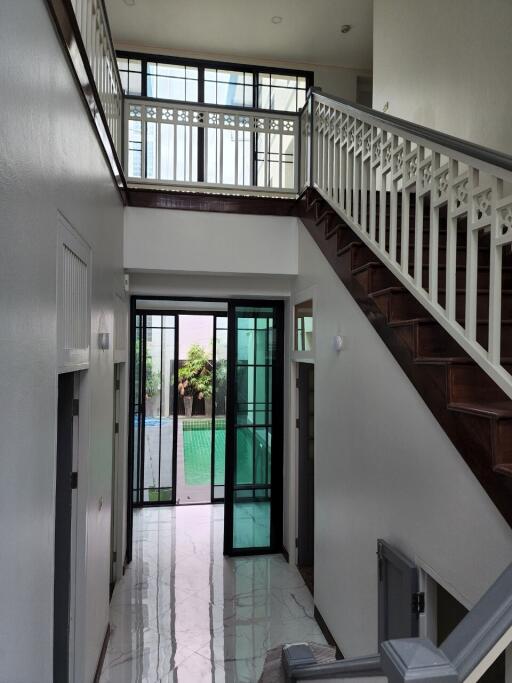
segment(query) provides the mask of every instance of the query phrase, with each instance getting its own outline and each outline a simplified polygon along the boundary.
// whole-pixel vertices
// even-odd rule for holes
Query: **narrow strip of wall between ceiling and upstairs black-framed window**
[[[116,42],[118,50],[131,50],[134,52],[148,52],[153,54],[171,55],[174,57],[190,57],[192,59],[212,59],[223,62],[236,62],[238,64],[256,64],[258,66],[270,66],[283,69],[299,69],[303,71],[313,71],[315,86],[322,88],[325,92],[348,100],[356,99],[356,86],[358,76],[371,76],[370,71],[365,69],[351,69],[342,66],[308,64],[303,62],[280,62],[274,60],[254,60],[241,55],[232,57],[219,54],[208,54],[201,52],[188,52],[185,50],[166,50],[164,48],[148,47],[146,45],[133,45],[130,43]]]

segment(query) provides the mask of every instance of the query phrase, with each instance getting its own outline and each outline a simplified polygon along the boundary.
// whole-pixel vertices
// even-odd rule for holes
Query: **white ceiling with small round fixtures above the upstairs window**
[[[373,0],[106,0],[106,6],[117,44],[372,68]],[[349,33],[341,33],[343,24],[351,25]]]

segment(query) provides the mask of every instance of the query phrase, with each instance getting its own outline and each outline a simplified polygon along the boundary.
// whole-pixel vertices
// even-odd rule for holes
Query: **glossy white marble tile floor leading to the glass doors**
[[[100,683],[256,683],[266,651],[325,643],[280,555],[225,558],[222,505],[138,510]]]

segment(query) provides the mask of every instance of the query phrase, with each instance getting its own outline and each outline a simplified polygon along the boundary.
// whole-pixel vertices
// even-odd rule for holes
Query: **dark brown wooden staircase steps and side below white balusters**
[[[301,195],[297,212],[340,280],[512,526],[512,401],[318,192],[309,189]],[[510,265],[505,264],[504,277],[510,277]],[[484,270],[484,303],[485,288]],[[508,317],[512,318],[512,313]],[[486,324],[482,315],[479,322],[482,334],[486,332]],[[504,328],[502,362],[508,365],[506,357],[512,357],[512,322],[509,332],[507,323]]]

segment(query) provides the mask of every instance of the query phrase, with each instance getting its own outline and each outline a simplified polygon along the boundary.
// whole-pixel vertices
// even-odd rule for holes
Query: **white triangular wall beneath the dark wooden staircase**
[[[469,607],[510,562],[512,533],[303,227],[299,273],[316,326],[315,603],[345,656],[368,654],[377,538]]]

